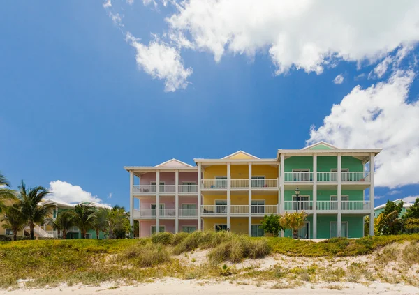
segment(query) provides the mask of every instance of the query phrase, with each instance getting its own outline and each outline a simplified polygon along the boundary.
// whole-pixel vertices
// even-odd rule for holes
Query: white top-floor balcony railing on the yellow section
[[[203,179],[201,188],[204,190],[227,190],[227,179]],[[252,190],[275,190],[278,179],[251,179]],[[230,179],[230,190],[248,190],[249,179]]]

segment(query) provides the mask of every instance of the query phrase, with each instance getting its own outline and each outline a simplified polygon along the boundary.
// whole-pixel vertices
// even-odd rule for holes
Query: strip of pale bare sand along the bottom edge
[[[328,289],[329,285],[339,285],[341,290]],[[419,288],[406,285],[391,285],[387,283],[372,283],[369,287],[355,283],[333,283],[311,285],[307,284],[298,289],[270,289],[268,286],[256,287],[255,285],[235,285],[228,281],[208,282],[200,280],[177,280],[166,279],[140,284],[137,286],[115,285],[115,283],[105,283],[100,286],[75,285],[68,287],[54,287],[51,289],[16,289],[12,291],[1,290],[1,294],[26,295],[26,294],[45,294],[45,295],[87,295],[87,294],[419,294]]]

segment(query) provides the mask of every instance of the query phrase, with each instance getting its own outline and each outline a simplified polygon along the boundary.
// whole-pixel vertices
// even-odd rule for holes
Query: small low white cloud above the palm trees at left
[[[50,191],[52,192],[52,194],[48,196],[48,198],[56,199],[57,201],[67,203],[102,202],[100,198],[91,195],[90,192],[82,190],[80,186],[73,186],[71,183],[68,183],[66,181],[51,181]]]

